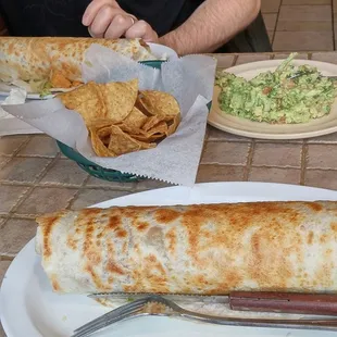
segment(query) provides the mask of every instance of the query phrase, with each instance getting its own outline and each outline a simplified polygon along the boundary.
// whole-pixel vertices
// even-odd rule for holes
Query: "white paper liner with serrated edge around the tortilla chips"
[[[49,136],[76,149],[85,158],[123,173],[192,186],[205,134],[208,107],[212,100],[216,61],[188,55],[162,64],[161,71],[139,64],[108,48],[92,45],[83,63],[84,80],[97,83],[139,79],[139,88],[173,95],[182,109],[177,132],[157,148],[117,158],[95,155],[82,116],[64,108],[58,98],[32,101],[3,109]]]

